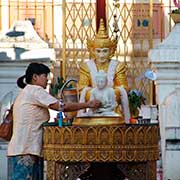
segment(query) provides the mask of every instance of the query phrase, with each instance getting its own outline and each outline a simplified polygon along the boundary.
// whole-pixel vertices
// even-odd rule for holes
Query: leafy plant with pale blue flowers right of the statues
[[[145,98],[142,92],[136,89],[129,91],[128,100],[129,100],[129,108],[132,116],[136,115],[138,108],[140,108],[142,104],[145,104]]]

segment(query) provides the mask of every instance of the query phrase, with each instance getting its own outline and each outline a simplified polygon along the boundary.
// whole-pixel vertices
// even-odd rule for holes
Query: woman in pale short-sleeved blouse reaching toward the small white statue
[[[42,124],[49,120],[48,108],[59,110],[59,101],[46,90],[50,69],[31,63],[17,85],[22,88],[13,106],[13,136],[8,145],[8,179],[42,180]],[[99,101],[64,104],[63,111],[97,108]]]

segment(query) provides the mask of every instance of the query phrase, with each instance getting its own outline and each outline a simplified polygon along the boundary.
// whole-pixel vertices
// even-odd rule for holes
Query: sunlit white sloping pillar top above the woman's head
[[[55,60],[54,49],[41,39],[31,21],[15,21],[0,34],[0,60],[49,58]]]

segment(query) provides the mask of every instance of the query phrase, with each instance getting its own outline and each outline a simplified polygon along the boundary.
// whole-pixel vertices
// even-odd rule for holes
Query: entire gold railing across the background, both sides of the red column
[[[114,35],[114,15],[120,29],[115,58],[127,64],[130,88],[141,90],[151,102],[152,87],[142,74],[150,68],[149,49],[161,42],[174,25],[165,16],[175,8],[174,4],[165,0],[148,3],[107,0],[106,3],[110,36]],[[0,0],[1,30],[9,28],[15,20],[24,19],[32,20],[37,33],[55,48],[60,64],[56,75],[78,78],[78,67],[89,58],[86,39],[93,38],[96,31],[96,0]]]

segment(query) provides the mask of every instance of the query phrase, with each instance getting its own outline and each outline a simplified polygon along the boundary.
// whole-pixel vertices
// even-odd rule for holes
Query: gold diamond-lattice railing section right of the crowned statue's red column
[[[143,78],[143,73],[146,69],[150,69],[147,54],[153,47],[153,10],[157,10],[157,7],[153,4],[153,0],[149,3],[135,3],[132,0],[127,3],[109,1],[108,9],[108,24],[112,24],[109,33],[114,35],[114,16],[119,26],[116,58],[128,66],[130,88],[141,90],[146,99],[152,103],[152,84]]]

